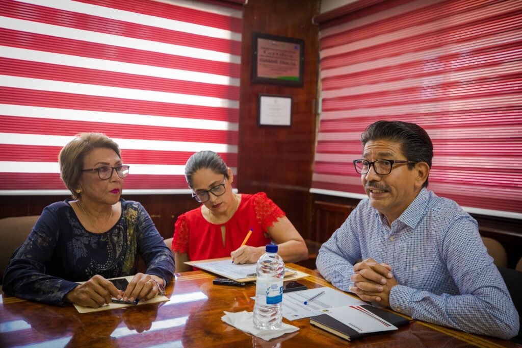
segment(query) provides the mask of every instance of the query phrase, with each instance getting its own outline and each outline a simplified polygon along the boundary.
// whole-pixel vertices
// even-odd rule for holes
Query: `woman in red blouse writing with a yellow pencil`
[[[176,272],[192,271],[185,261],[232,257],[234,263],[254,263],[274,242],[284,262],[308,257],[303,237],[266,193],[237,194],[234,176],[212,151],[192,155],[185,178],[200,207],[177,218],[172,241]],[[248,231],[252,234],[241,247]]]

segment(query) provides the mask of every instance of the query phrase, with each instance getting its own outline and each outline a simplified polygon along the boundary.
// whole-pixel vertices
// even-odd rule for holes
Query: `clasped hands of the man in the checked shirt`
[[[392,266],[378,263],[374,259],[366,259],[353,265],[354,274],[350,277],[354,286],[350,292],[363,301],[378,302],[389,307],[389,297],[392,287],[399,284],[392,274]]]

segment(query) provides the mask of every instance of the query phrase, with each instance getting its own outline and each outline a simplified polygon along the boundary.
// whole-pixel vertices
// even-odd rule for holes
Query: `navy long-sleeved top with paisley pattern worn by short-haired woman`
[[[76,282],[100,274],[106,279],[137,272],[138,257],[147,274],[168,282],[174,274],[174,257],[165,246],[143,205],[120,199],[122,215],[105,233],[87,231],[70,200],[44,208],[4,274],[5,293],[53,305],[65,305],[64,296]]]

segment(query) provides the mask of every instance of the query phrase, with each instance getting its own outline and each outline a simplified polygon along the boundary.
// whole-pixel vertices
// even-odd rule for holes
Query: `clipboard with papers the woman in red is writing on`
[[[238,264],[232,263],[232,258],[218,258],[198,261],[186,261],[185,264],[200,268],[204,271],[217,274],[219,276],[232,279],[239,283],[255,282],[256,280],[256,264]],[[236,272],[230,272],[230,270],[238,269]],[[284,281],[291,281],[301,279],[309,276],[304,272],[296,271],[294,269],[285,267]]]

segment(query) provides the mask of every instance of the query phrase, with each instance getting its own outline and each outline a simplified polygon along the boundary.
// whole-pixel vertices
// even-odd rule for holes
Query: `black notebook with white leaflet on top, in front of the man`
[[[352,341],[378,332],[397,330],[409,320],[372,305],[342,306],[311,317],[310,324]]]

